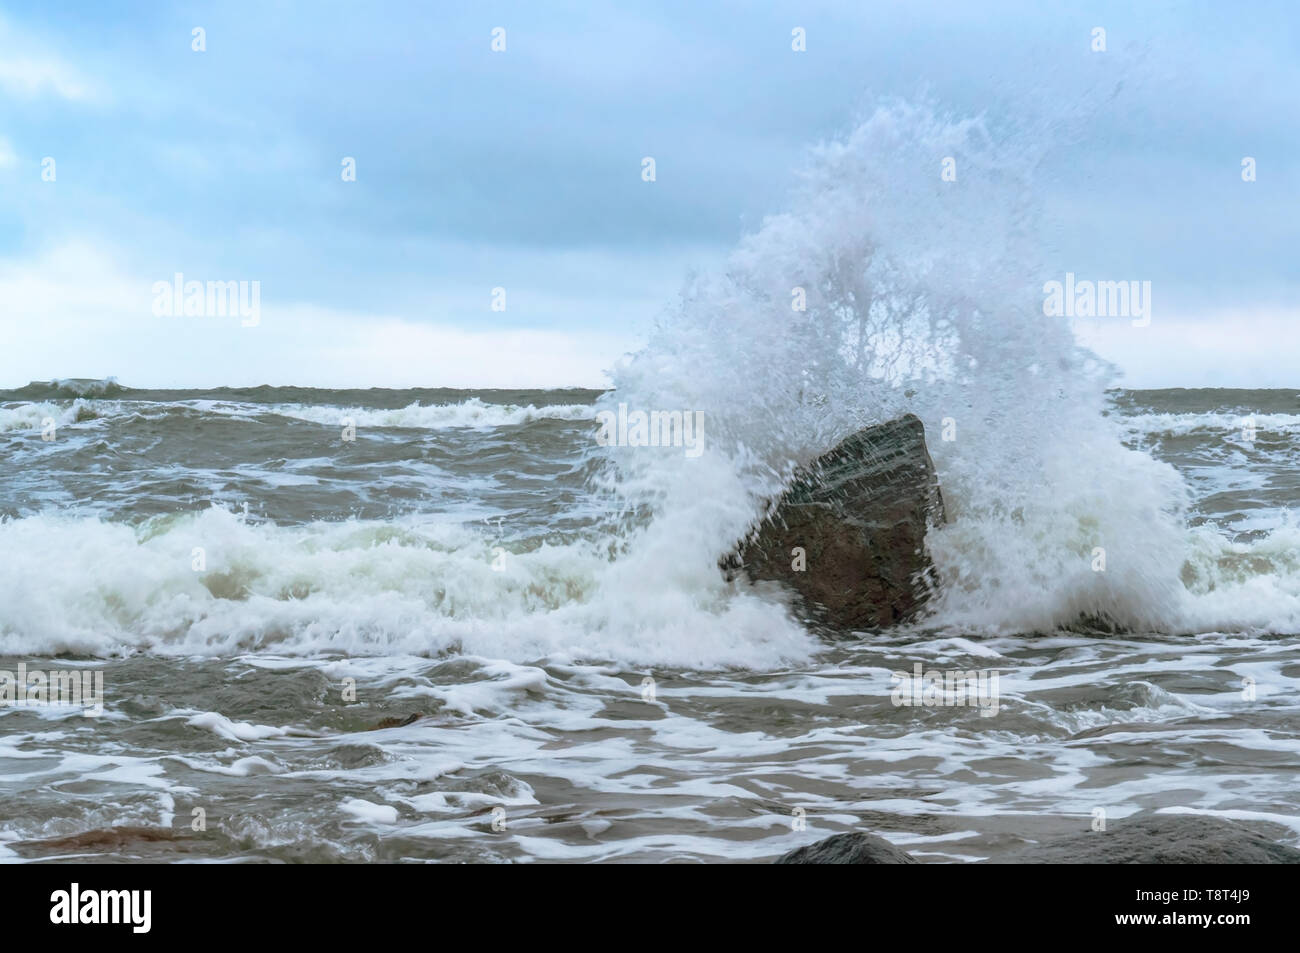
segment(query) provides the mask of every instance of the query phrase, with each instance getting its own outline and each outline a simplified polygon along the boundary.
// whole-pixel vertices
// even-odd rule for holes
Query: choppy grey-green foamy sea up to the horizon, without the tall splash
[[[1114,529],[1092,571],[1100,510],[1027,533],[1074,568],[1009,589],[932,415],[967,595],[836,641],[610,491],[595,399],[0,393],[0,670],[105,685],[98,718],[0,709],[4,857],[758,861],[864,827],[956,861],[1097,809],[1300,842],[1300,391],[1112,394],[1188,488],[1173,594]],[[916,663],[997,670],[998,714],[893,705]]]

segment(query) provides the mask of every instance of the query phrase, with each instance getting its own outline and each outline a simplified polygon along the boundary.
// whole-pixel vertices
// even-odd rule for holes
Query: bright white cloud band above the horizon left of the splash
[[[599,387],[608,382],[603,369],[636,343],[277,303],[265,287],[255,328],[238,317],[156,317],[152,285],[170,277],[124,274],[87,243],[0,263],[0,387],[108,376],[139,387]]]

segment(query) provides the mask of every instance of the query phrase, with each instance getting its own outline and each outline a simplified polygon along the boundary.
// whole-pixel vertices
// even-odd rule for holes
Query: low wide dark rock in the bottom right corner
[[[1032,844],[985,863],[1300,863],[1300,850],[1204,814],[1141,814]]]

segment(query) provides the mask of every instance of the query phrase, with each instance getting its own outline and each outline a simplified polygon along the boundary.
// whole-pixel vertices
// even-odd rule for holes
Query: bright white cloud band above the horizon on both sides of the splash
[[[638,345],[621,325],[452,326],[442,311],[425,320],[282,302],[266,285],[256,328],[238,317],[156,317],[152,285],[170,277],[130,274],[87,242],[0,260],[0,387],[107,376],[133,386],[599,387]],[[1297,328],[1300,313],[1283,309],[1157,315],[1147,328],[1075,321],[1080,343],[1118,364],[1131,387],[1300,386]]]

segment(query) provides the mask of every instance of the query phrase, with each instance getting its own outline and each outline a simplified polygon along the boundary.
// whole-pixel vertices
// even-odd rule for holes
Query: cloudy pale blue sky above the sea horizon
[[[1080,117],[1040,198],[1062,270],[1152,283],[1075,320],[1126,384],[1300,385],[1300,7],[612,7],[0,0],[0,387],[602,386],[898,96]],[[155,313],[177,273],[256,324]]]

